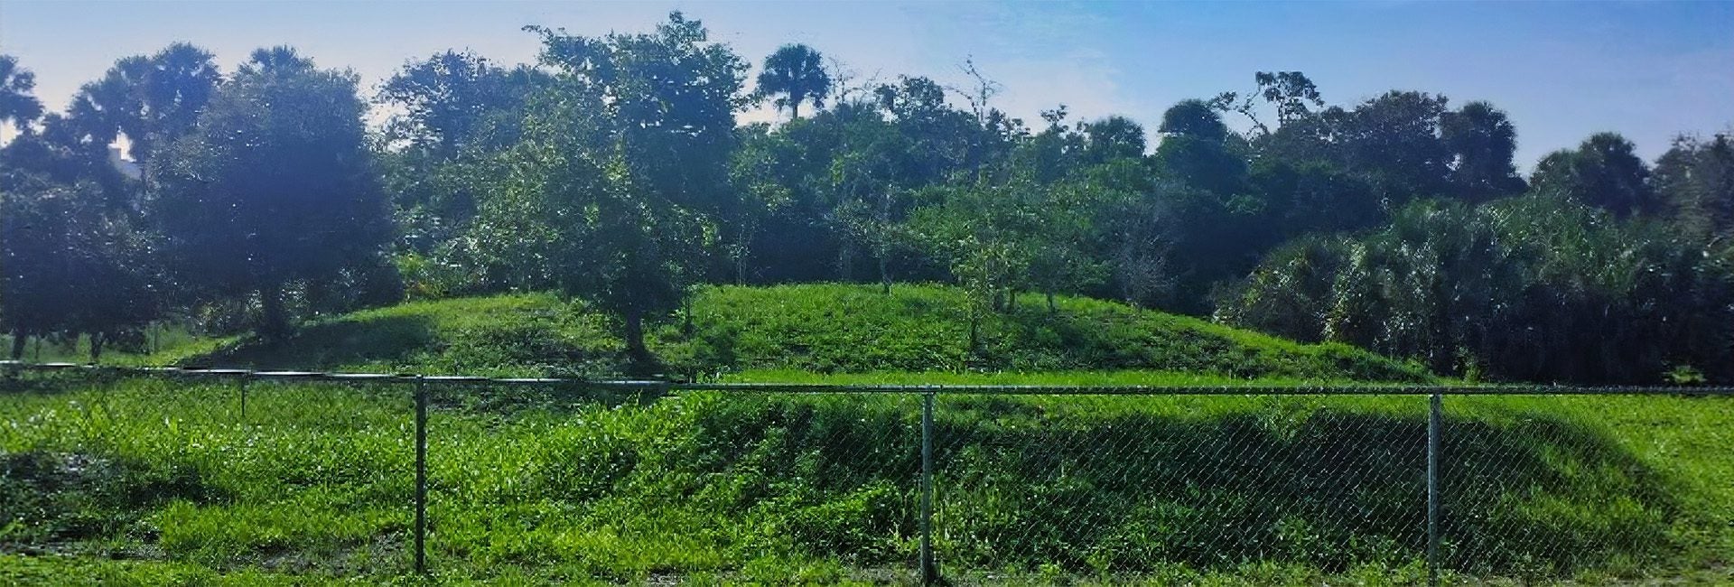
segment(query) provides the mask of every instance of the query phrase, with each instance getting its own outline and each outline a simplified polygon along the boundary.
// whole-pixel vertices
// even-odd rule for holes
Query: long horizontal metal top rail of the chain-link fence
[[[824,383],[683,383],[661,379],[482,377],[409,372],[321,372],[194,367],[121,367],[97,364],[33,364],[0,360],[7,371],[75,371],[120,376],[215,377],[262,381],[425,383],[442,386],[590,388],[619,391],[739,391],[739,393],[950,393],[950,395],[1720,395],[1734,386],[1576,386],[1576,384],[824,384]]]

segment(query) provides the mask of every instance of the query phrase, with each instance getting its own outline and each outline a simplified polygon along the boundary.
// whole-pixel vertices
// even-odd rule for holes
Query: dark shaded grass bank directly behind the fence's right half
[[[1281,561],[1344,571],[1425,556],[1420,412],[1164,416],[1063,402],[942,400],[935,533],[947,564],[1138,573]],[[909,558],[921,471],[912,398],[737,397],[699,426],[701,469],[746,483],[733,509],[777,518],[815,556]],[[1443,438],[1450,568],[1562,577],[1673,551],[1677,485],[1595,429],[1450,419]]]

